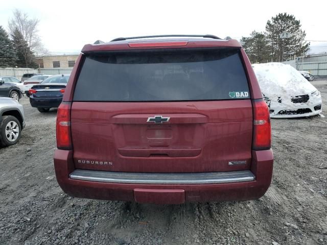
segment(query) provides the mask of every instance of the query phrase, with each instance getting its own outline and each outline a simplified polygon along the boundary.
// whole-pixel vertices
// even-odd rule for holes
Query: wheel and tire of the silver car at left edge
[[[21,126],[14,116],[3,116],[0,121],[0,145],[9,146],[18,142]]]

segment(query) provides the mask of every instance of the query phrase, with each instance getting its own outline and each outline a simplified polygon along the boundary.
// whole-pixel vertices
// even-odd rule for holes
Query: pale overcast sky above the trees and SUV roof
[[[38,18],[39,35],[50,52],[79,52],[97,39],[158,34],[213,34],[240,39],[281,12],[301,21],[307,40],[327,40],[327,1],[44,1],[0,0],[0,25],[8,28],[18,8]],[[311,42],[327,52],[327,42]],[[320,46],[320,47],[318,47]]]

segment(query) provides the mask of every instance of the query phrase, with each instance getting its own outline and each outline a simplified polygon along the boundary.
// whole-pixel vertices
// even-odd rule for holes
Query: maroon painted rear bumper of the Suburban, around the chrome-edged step
[[[76,170],[73,162],[73,151],[64,150],[55,151],[54,164],[60,187],[65,193],[73,197],[138,203],[181,204],[184,202],[259,199],[265,194],[271,182],[273,155],[271,150],[252,151],[251,169],[247,171],[250,173],[245,177],[253,176],[253,179],[247,178],[243,181],[237,179],[237,181],[231,180],[228,183],[201,182],[200,184],[190,184],[190,182],[185,182],[187,184],[180,184],[179,182],[171,182],[172,184],[167,184],[169,182],[157,182],[160,184],[153,184],[152,182],[141,183],[139,181],[137,183],[122,183],[115,180],[105,182],[99,178],[91,181],[87,178],[79,179],[76,176],[81,176],[81,173],[84,173],[84,177],[85,174],[87,177],[87,172]],[[103,173],[106,175],[106,172]],[[124,180],[124,178],[121,179]]]

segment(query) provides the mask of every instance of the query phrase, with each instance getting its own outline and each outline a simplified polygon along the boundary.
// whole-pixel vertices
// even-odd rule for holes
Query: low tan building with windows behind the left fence
[[[42,56],[35,58],[39,68],[73,68],[78,55]]]

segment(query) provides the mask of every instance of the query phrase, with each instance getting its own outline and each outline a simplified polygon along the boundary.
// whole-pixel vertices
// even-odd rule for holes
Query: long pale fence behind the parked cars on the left
[[[21,79],[26,73],[41,73],[45,75],[71,74],[73,68],[0,68],[0,76],[15,77]]]

